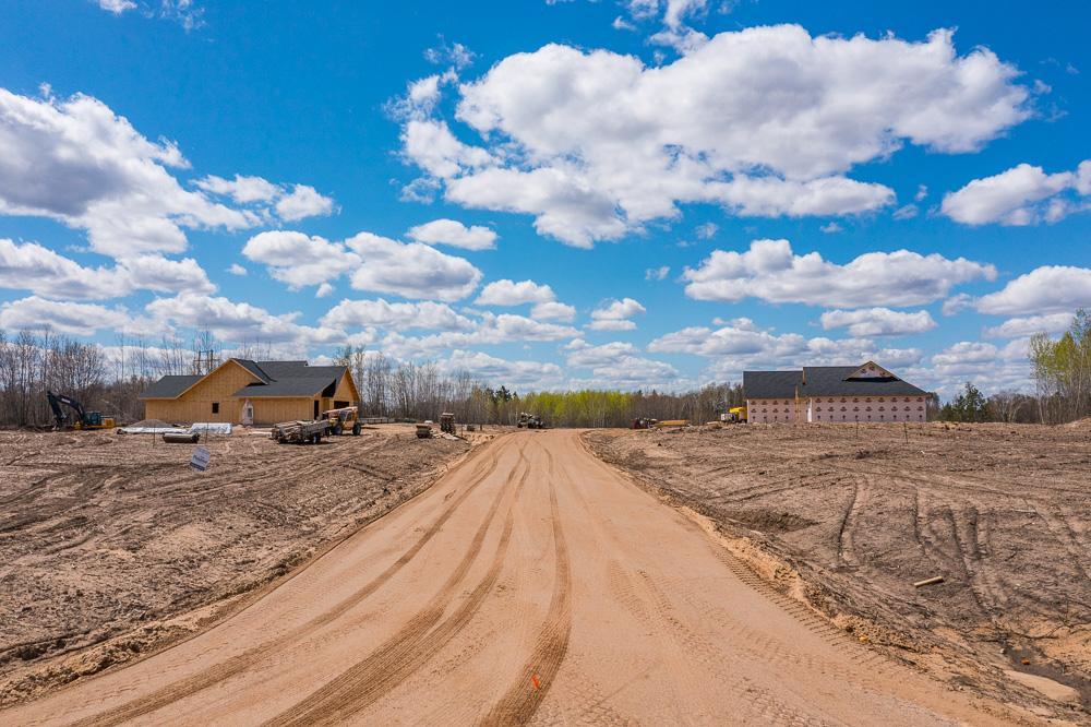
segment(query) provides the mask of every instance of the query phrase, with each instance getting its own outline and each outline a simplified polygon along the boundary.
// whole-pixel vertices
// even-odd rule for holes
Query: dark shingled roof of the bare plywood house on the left
[[[344,366],[308,366],[307,361],[252,361],[245,358],[230,358],[224,365],[231,362],[257,379],[231,394],[240,398],[333,396],[347,370]],[[148,386],[141,398],[178,398],[204,378],[163,377]]]

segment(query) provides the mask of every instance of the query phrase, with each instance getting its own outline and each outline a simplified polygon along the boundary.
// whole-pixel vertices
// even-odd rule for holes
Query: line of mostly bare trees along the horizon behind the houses
[[[0,331],[0,426],[48,426],[52,414],[46,391],[68,394],[88,410],[120,422],[144,416],[139,400],[148,383],[166,374],[196,373],[195,351],[215,349],[207,333],[193,342],[119,336],[107,350],[49,332]],[[268,359],[267,345],[242,346],[243,358]],[[519,394],[493,388],[469,371],[445,374],[435,362],[400,362],[377,351],[346,348],[337,360],[352,370],[369,416],[437,419],[453,412],[458,421],[515,424],[520,412],[556,427],[625,427],[637,417],[704,422],[743,404],[739,383],[709,384],[684,393],[657,391],[570,391]],[[951,421],[1062,424],[1091,416],[1091,314],[1077,312],[1071,329],[1057,338],[1041,333],[1030,341],[1035,391],[985,396],[973,383],[930,417]]]

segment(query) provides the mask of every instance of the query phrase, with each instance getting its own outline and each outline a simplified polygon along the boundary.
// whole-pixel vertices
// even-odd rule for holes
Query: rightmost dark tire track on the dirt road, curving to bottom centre
[[[549,457],[550,516],[553,522],[553,551],[556,560],[553,595],[533,651],[523,664],[515,681],[481,720],[484,725],[527,724],[549,693],[568,649],[568,636],[572,633],[572,567],[561,526],[556,482],[552,476],[553,455],[549,450],[546,450],[546,454]],[[535,677],[538,678],[538,683],[535,682]]]

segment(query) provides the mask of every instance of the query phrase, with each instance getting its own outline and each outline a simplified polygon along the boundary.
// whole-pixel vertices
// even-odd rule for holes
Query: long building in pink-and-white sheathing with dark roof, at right
[[[924,421],[927,392],[867,361],[805,366],[796,371],[744,371],[751,422]]]

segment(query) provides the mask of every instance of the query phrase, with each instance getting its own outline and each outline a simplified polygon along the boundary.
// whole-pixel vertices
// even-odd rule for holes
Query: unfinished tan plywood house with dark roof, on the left
[[[144,418],[272,425],[316,419],[360,401],[345,366],[229,358],[203,377],[163,377],[141,396]]]

